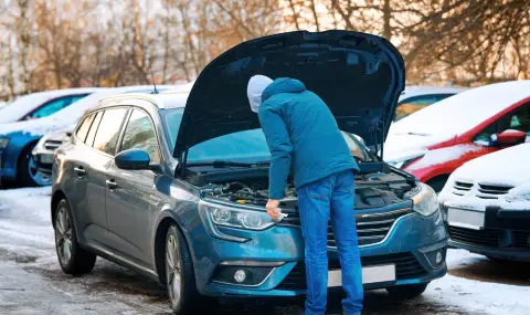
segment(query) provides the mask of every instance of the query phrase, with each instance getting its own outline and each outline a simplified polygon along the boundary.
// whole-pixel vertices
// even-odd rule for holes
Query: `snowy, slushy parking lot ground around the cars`
[[[0,190],[0,314],[170,314],[165,290],[156,282],[102,259],[86,276],[64,275],[56,263],[50,220],[50,188]],[[448,274],[407,302],[370,292],[363,314],[530,314],[530,264],[522,265],[526,272],[518,285],[507,285],[481,276],[469,280],[467,270],[499,263],[460,250],[449,250],[447,260],[449,273],[462,276]],[[521,264],[500,265],[498,272],[513,267]],[[502,274],[498,279],[506,282]],[[252,303],[229,305],[216,314],[290,315],[301,309],[300,300]],[[341,314],[340,303],[333,305],[329,314]]]

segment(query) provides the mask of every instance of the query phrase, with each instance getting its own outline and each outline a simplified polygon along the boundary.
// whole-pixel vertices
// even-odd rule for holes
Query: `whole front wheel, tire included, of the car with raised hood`
[[[190,250],[174,224],[168,229],[165,249],[166,287],[171,308],[178,315],[202,314],[197,312],[211,304],[204,303],[205,297],[197,291]]]

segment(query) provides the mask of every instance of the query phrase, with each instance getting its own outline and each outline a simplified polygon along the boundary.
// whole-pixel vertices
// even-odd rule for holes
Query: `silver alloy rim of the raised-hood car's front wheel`
[[[180,249],[173,234],[168,235],[166,244],[166,270],[168,279],[168,293],[173,306],[180,305],[182,284],[182,263]]]

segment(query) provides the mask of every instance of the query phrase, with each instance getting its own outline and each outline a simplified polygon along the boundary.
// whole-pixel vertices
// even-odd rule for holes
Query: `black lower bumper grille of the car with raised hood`
[[[417,279],[428,274],[412,253],[361,258],[361,263],[362,266],[395,264],[396,280]],[[328,269],[339,270],[339,261],[329,261]],[[306,264],[298,262],[276,288],[306,290]]]

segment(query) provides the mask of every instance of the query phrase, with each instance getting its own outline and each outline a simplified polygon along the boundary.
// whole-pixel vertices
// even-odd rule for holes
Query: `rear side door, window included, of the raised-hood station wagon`
[[[86,177],[86,216],[89,224],[85,228],[88,242],[108,246],[107,213],[105,210],[105,193],[107,190],[106,171],[113,161],[121,124],[127,115],[127,108],[107,108],[99,112],[86,136],[89,150],[83,151],[78,165],[74,169]]]

